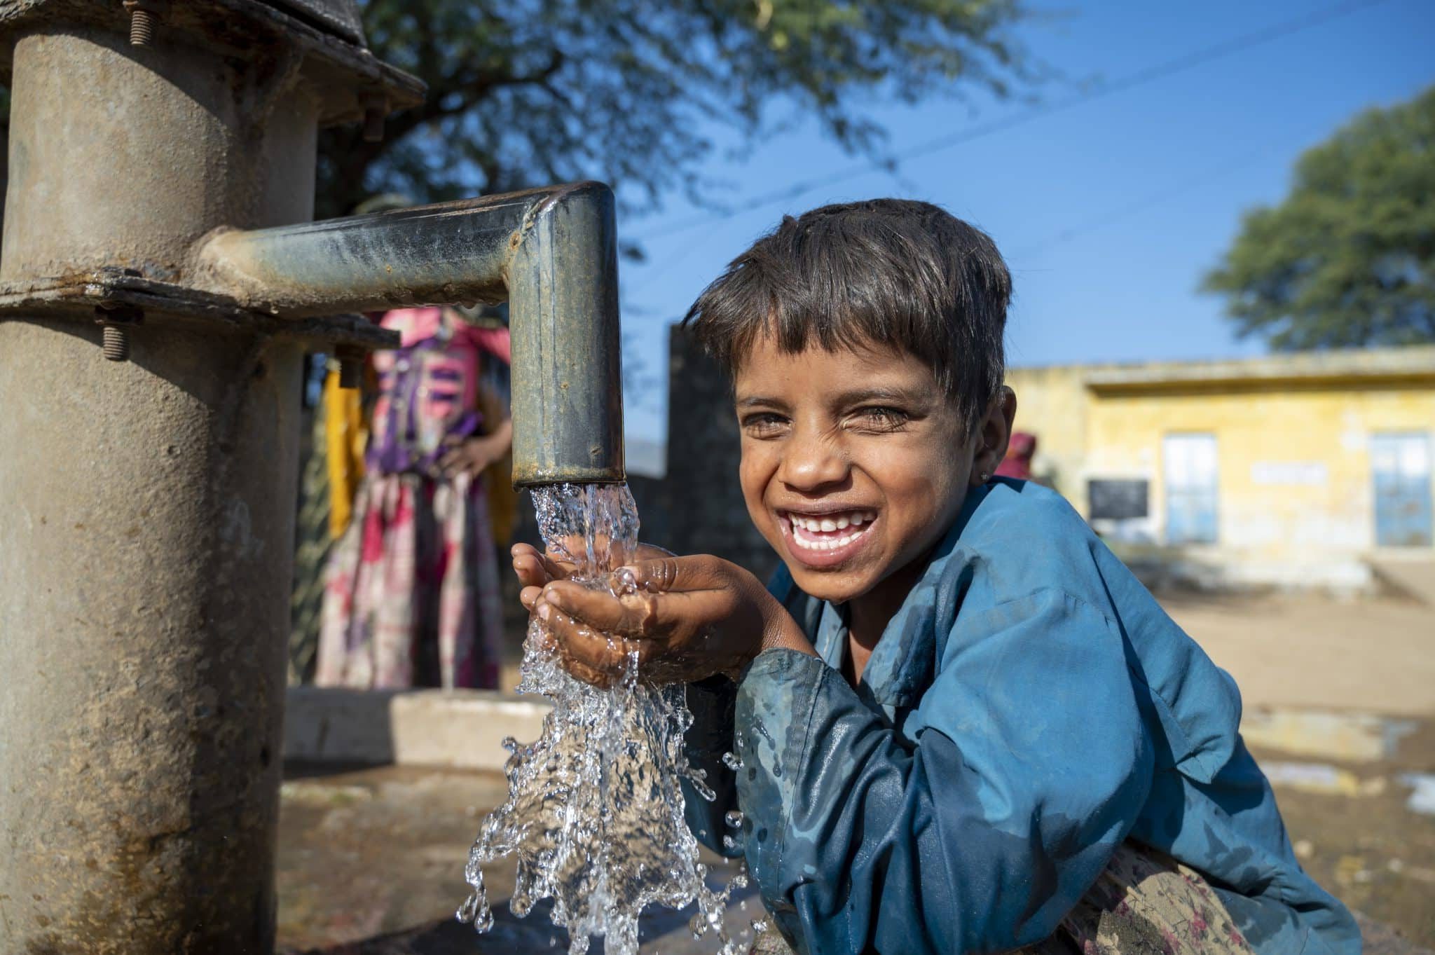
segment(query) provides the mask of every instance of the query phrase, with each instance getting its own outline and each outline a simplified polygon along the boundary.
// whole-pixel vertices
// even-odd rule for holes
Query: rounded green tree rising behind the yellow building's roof
[[[1435,341],[1435,87],[1307,151],[1203,287],[1273,348]]]

